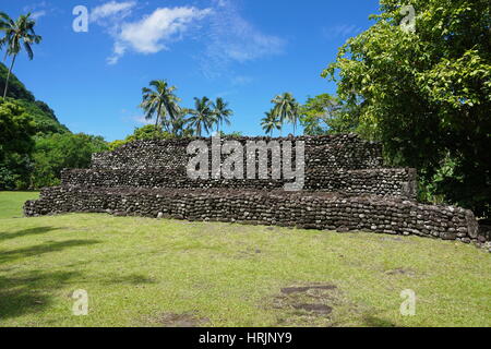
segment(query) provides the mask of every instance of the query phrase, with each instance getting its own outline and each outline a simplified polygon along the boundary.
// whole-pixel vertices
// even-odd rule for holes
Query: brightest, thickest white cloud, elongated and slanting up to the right
[[[179,40],[182,34],[193,24],[212,11],[196,8],[156,9],[141,21],[122,23],[116,35],[113,55],[108,63],[115,64],[128,51],[139,53],[156,53],[167,49],[169,41]]]

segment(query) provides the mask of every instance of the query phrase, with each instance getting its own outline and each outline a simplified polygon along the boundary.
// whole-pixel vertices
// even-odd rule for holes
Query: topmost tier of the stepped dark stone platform
[[[366,142],[355,134],[301,136],[291,139],[233,137],[243,146],[249,141],[304,141],[306,168],[321,168],[325,171],[361,170],[383,167],[382,147],[378,143]],[[201,139],[212,145],[211,139]],[[168,141],[139,141],[123,145],[109,153],[94,154],[93,169],[168,169],[181,170],[190,156],[187,154],[189,139]],[[295,146],[295,144],[294,144]],[[294,152],[295,154],[295,152]]]

